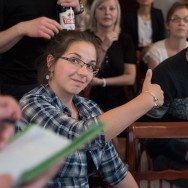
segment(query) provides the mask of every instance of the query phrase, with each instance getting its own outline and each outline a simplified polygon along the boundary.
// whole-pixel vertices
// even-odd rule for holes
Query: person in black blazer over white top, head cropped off
[[[153,8],[153,0],[137,0],[137,2],[138,9],[124,16],[123,30],[130,34],[136,47],[139,62],[137,90],[140,90],[147,70],[143,56],[154,42],[165,38],[165,24],[162,11]]]

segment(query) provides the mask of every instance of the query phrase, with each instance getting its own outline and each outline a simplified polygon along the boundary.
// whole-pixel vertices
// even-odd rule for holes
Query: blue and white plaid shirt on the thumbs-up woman
[[[78,109],[79,120],[71,118],[70,110],[51,90],[49,85],[41,85],[27,93],[20,101],[26,123],[36,123],[50,128],[57,134],[74,139],[80,136],[102,112],[91,100],[75,96],[73,103]],[[127,164],[118,157],[111,141],[105,141],[104,133],[91,141],[85,148],[70,155],[56,177],[48,187],[80,188],[88,185],[88,163],[86,152],[90,154],[94,168],[104,176],[111,185],[118,184],[128,172]],[[94,169],[93,169],[94,170]]]

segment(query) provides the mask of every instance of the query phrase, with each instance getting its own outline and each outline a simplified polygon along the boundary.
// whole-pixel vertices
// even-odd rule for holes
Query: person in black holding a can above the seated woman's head
[[[61,6],[81,13],[79,0],[0,0],[0,92],[19,100],[37,85],[36,59],[54,35]],[[82,9],[83,10],[83,9]],[[79,17],[79,16],[76,16]]]

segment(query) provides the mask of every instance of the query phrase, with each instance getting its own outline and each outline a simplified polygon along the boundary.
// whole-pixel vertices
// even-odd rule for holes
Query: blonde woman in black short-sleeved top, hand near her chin
[[[94,1],[90,10],[89,30],[102,41],[102,64],[91,82],[90,98],[105,112],[128,101],[126,86],[136,78],[135,49],[131,38],[120,28],[118,0]],[[118,140],[114,138],[118,151]]]

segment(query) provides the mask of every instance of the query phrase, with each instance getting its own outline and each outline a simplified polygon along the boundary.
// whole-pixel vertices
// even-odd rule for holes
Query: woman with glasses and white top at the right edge
[[[144,56],[144,61],[150,69],[188,47],[188,4],[174,3],[167,13],[166,20],[168,38],[154,43]]]

